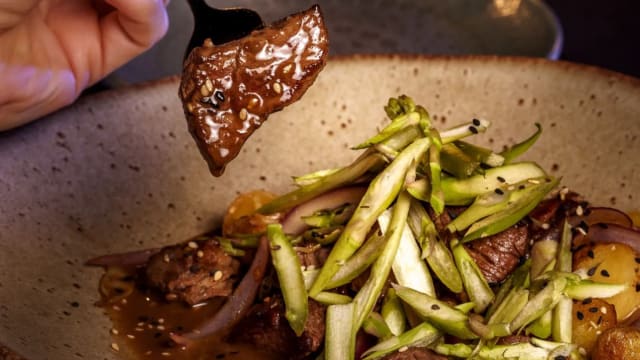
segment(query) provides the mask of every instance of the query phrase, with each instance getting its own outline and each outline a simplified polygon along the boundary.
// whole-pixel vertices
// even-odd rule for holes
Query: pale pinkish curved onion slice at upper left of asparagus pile
[[[299,235],[309,227],[305,224],[303,217],[313,215],[319,210],[335,209],[340,205],[357,203],[366,190],[365,187],[344,187],[316,196],[291,209],[282,220],[282,230],[288,235]]]

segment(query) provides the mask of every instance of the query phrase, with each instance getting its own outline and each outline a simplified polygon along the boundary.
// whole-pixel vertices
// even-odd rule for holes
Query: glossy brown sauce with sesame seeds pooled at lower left
[[[126,281],[134,282],[136,271],[126,270]],[[175,345],[171,332],[185,332],[212,317],[224,299],[190,307],[168,302],[159,294],[136,285],[117,300],[103,298],[98,304],[111,319],[111,350],[126,359],[276,359],[251,345],[230,344],[223,339],[204,339],[188,347]]]

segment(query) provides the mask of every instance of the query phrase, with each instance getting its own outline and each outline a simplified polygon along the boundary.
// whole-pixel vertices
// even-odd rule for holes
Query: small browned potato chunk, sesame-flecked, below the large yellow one
[[[617,323],[615,307],[602,299],[573,302],[572,340],[587,353],[593,351],[598,336]]]

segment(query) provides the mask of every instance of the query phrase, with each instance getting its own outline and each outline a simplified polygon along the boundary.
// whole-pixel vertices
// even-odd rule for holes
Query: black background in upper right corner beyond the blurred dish
[[[561,60],[640,78],[640,0],[546,0],[564,30]]]

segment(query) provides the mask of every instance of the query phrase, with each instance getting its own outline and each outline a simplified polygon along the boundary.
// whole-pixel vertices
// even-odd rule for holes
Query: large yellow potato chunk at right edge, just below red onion
[[[589,244],[574,253],[573,269],[584,269],[593,281],[625,284],[625,291],[604,299],[616,308],[618,322],[623,322],[640,307],[640,259],[633,248],[624,244]]]

